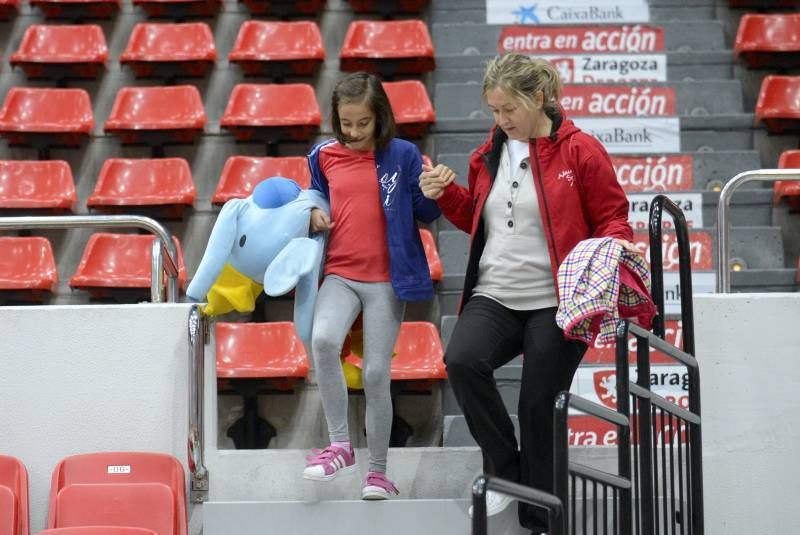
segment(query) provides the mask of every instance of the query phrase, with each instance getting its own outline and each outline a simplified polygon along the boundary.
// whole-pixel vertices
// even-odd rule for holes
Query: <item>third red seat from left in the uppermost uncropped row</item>
[[[316,22],[248,20],[228,59],[246,75],[311,76],[325,60],[325,47]]]

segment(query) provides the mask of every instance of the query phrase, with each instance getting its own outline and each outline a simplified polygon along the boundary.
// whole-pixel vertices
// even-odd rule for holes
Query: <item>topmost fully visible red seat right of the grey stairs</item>
[[[736,57],[754,69],[800,65],[800,15],[748,13],[739,21]]]

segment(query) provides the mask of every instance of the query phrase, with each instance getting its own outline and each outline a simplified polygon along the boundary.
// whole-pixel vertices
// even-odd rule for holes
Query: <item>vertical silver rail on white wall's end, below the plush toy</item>
[[[208,498],[208,470],[205,465],[205,335],[208,322],[193,305],[189,312],[189,499],[203,503]]]

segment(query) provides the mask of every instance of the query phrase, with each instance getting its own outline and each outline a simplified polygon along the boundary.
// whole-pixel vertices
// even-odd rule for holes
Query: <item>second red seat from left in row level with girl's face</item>
[[[191,143],[202,133],[206,112],[200,92],[193,85],[123,87],[104,129],[123,143],[167,138]]]

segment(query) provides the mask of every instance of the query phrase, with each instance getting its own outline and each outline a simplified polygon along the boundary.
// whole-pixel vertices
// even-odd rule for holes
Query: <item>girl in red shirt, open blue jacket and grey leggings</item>
[[[405,301],[433,298],[415,220],[429,223],[440,212],[419,189],[419,150],[394,137],[394,116],[380,80],[361,72],[347,75],[334,88],[331,109],[336,137],[308,156],[311,188],[331,203],[330,216],[318,209],[311,213],[312,232],[330,231],[311,353],[331,443],[308,457],[303,477],[327,481],[356,469],[339,354],[363,312],[369,467],[361,497],[383,500],[398,494],[386,477],[392,352]]]

